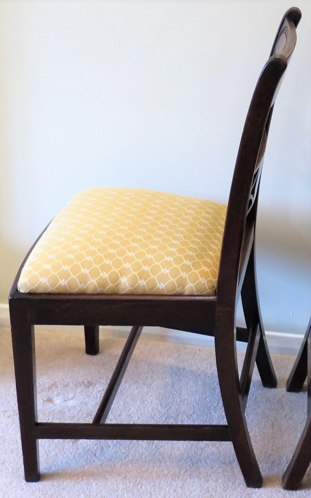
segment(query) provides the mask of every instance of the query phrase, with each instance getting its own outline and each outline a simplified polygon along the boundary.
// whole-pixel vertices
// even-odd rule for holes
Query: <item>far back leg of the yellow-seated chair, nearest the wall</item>
[[[255,244],[253,244],[249,256],[241,289],[241,298],[247,329],[251,330],[252,326],[257,323],[259,324],[260,338],[256,356],[256,365],[262,384],[264,387],[276,387],[277,377],[272,365],[259,306],[255,262]]]

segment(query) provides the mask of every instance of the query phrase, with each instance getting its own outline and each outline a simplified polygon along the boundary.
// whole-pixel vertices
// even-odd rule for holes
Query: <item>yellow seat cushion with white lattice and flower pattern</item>
[[[90,187],[51,222],[18,290],[213,295],[225,215],[209,200]]]

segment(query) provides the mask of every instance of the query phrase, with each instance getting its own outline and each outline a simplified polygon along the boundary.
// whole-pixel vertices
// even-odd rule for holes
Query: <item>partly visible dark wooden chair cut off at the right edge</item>
[[[286,390],[301,391],[308,377],[308,417],[301,438],[293,454],[282,484],[285,490],[297,490],[311,462],[311,318],[297,355],[296,362],[288,377]]]

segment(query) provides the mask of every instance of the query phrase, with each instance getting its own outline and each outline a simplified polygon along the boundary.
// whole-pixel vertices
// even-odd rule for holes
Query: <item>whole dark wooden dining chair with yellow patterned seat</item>
[[[277,380],[267,348],[258,301],[255,273],[256,213],[261,169],[274,102],[296,44],[296,27],[300,18],[301,12],[297,8],[286,12],[270,58],[260,74],[242,133],[227,210],[225,206],[211,201],[152,191],[89,189],[69,203],[27,254],[9,295],[26,481],[39,480],[39,439],[232,441],[246,485],[261,487],[262,476],[244,415],[255,361],[264,386],[276,387]],[[120,199],[122,195],[124,202]],[[110,199],[107,203],[103,200],[106,196]],[[126,204],[134,202],[133,197],[138,202],[138,208],[133,207],[133,204]],[[110,213],[111,216],[107,216],[108,223],[104,224],[103,230],[103,221],[98,223],[95,216],[92,223],[85,225],[87,229],[84,230],[84,225],[79,225],[79,220],[91,216],[93,210],[96,215],[102,215],[98,203],[100,206],[104,203],[104,209]],[[126,209],[123,209],[124,203]],[[193,210],[191,206],[194,206]],[[163,207],[164,214],[160,212]],[[144,209],[145,212],[142,212]],[[135,243],[135,248],[130,246],[130,251],[126,241],[133,240],[132,232],[128,232],[129,239],[124,238],[123,247],[119,241],[114,241],[119,244],[117,248],[123,251],[123,260],[119,261],[118,256],[118,264],[121,267],[112,261],[118,266],[119,279],[116,279],[114,268],[111,274],[102,271],[101,278],[105,280],[99,284],[97,277],[91,275],[94,267],[91,266],[92,271],[89,271],[87,264],[93,264],[96,257],[101,261],[103,257],[106,258],[105,265],[112,264],[106,255],[103,256],[101,247],[106,244],[105,238],[109,237],[109,224],[116,220],[115,213],[122,213],[122,210],[122,216],[126,218],[128,214],[132,217],[126,218],[126,224],[129,224],[126,226],[130,226],[134,231],[145,231],[146,237],[140,238],[140,242]],[[177,213],[177,221],[174,213]],[[135,225],[136,217],[140,218]],[[77,223],[80,228],[75,232]],[[159,226],[161,223],[164,230]],[[186,231],[183,232],[184,228]],[[123,229],[126,227],[122,227]],[[123,233],[126,233],[124,230]],[[154,237],[154,231],[160,234],[160,237]],[[100,232],[100,236],[96,237]],[[113,234],[116,232],[114,230]],[[85,247],[89,247],[90,237],[96,256],[85,256]],[[165,241],[163,237],[166,238]],[[162,246],[157,249],[157,244],[151,242],[159,238]],[[189,243],[193,251],[189,250]],[[78,275],[86,280],[78,281],[74,269],[68,264],[62,264],[64,254],[62,256],[60,253],[64,248],[68,251],[74,248],[80,269],[81,260],[87,260]],[[107,249],[105,246],[104,250],[118,252],[119,249]],[[173,256],[165,256],[170,251]],[[125,263],[127,256],[134,257],[135,264]],[[147,265],[142,266],[145,257],[149,257],[153,264],[151,270]],[[192,260],[186,260],[186,257],[192,257]],[[46,261],[50,261],[49,258],[55,261],[55,265],[46,264]],[[93,262],[90,263],[90,260]],[[167,266],[164,265],[164,260]],[[157,264],[160,264],[160,267],[162,264],[162,270],[155,269]],[[188,273],[184,265],[189,269]],[[150,276],[148,273],[148,280],[147,277],[144,280],[138,275],[142,268],[145,268],[143,271],[154,271],[154,274]],[[172,274],[170,268],[174,270]],[[63,277],[62,271],[71,271],[69,280]],[[134,284],[128,284],[126,271],[130,272]],[[236,304],[240,294],[247,329],[235,327]],[[86,352],[91,355],[99,351],[99,325],[134,324],[92,423],[46,423],[37,420],[34,325],[38,324],[84,325]],[[226,425],[105,423],[143,326],[168,327],[215,337],[217,372]],[[247,343],[240,378],[236,360],[236,340]]]

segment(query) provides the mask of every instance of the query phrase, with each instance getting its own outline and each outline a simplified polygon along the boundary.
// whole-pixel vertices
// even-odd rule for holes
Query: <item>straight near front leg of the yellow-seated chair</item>
[[[25,480],[39,481],[38,440],[35,438],[37,421],[36,367],[34,327],[27,323],[27,312],[16,303],[10,303],[11,334],[21,446]]]

